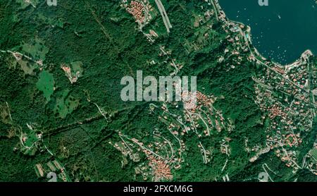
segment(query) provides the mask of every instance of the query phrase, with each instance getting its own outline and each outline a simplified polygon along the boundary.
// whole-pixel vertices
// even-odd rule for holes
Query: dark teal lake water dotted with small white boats
[[[219,0],[230,20],[251,27],[252,42],[266,58],[286,64],[306,50],[317,55],[317,4],[315,0]]]

